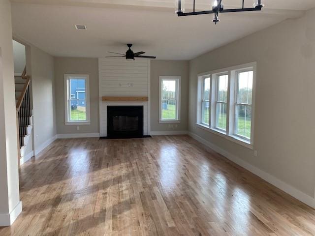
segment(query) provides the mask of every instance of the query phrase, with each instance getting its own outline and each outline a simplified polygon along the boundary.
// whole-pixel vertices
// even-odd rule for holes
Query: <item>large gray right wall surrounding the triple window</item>
[[[315,10],[189,64],[189,131],[313,197]],[[197,74],[257,62],[253,150],[196,127]]]

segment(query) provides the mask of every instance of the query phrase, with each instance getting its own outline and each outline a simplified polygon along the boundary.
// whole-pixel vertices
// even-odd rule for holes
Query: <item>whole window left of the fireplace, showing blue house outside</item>
[[[89,75],[64,75],[65,124],[90,124]]]

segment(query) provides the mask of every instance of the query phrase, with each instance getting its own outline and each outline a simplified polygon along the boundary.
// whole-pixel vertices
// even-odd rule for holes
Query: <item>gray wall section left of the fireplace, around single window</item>
[[[64,74],[90,75],[90,125],[65,125],[64,122]],[[55,58],[57,133],[99,133],[98,59]]]

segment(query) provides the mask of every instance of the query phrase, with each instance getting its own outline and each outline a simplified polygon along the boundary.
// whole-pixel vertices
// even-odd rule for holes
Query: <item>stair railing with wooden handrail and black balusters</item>
[[[18,137],[18,155],[21,157],[20,148],[23,144],[23,137],[28,133],[28,126],[30,125],[30,117],[32,116],[30,83],[31,77],[26,74],[24,69],[22,79],[26,80],[22,89],[21,95],[16,103],[16,120],[17,120],[17,137]]]

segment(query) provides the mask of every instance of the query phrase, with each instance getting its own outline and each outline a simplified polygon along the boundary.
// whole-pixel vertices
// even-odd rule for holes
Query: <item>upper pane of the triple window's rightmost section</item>
[[[252,71],[241,72],[238,76],[237,102],[252,104]]]

